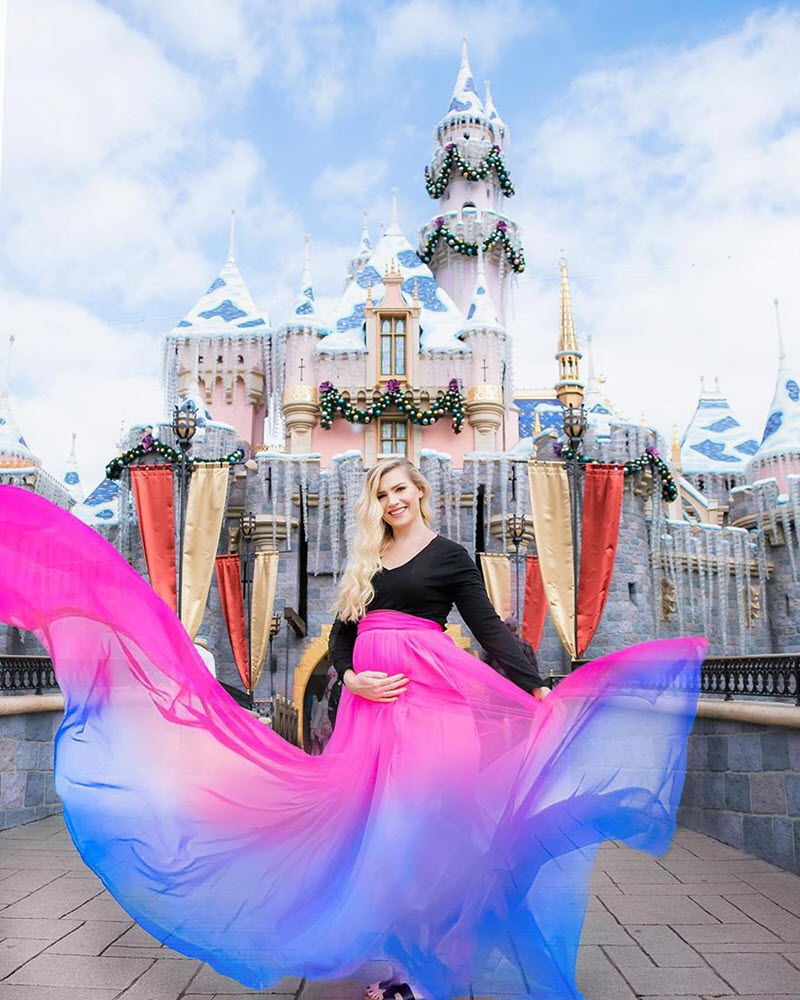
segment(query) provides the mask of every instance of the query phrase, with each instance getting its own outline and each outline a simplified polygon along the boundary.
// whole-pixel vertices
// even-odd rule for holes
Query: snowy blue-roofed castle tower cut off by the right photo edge
[[[747,467],[750,482],[774,476],[778,489],[788,491],[788,476],[800,475],[800,368],[783,342],[778,302],[778,377],[758,451]]]

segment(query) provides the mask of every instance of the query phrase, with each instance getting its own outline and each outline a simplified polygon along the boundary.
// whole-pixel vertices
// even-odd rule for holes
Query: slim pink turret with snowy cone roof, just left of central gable
[[[317,341],[327,333],[328,329],[320,320],[314,301],[309,237],[306,236],[300,291],[289,310],[286,322],[276,335],[276,366],[278,382],[283,387],[286,451],[294,454],[312,450],[311,431],[319,419],[316,390]]]

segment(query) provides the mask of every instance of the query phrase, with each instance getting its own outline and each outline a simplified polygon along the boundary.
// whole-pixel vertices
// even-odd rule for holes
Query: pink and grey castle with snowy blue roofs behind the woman
[[[173,408],[191,400],[195,455],[242,444],[251,460],[231,475],[220,551],[239,548],[239,516],[252,512],[256,546],[280,552],[275,607],[292,614],[271,644],[257,697],[285,692],[302,705],[310,677],[324,672],[353,505],[379,456],[407,455],[421,467],[437,530],[471,554],[510,552],[508,519],[530,511],[527,462],[558,460],[564,406],[581,402],[585,454],[629,473],[611,590],[587,655],[681,633],[707,635],[718,655],[800,651],[800,370],[781,347],[762,434],[739,424],[718,388],[704,388],[682,441],[666,447],[606,398],[591,351],[584,361],[562,261],[552,387],[515,393],[507,324],[525,256],[506,212],[514,195],[508,139],[488,86],[484,99],[478,94],[465,45],[425,171],[436,208],[413,244],[395,192],[374,246],[365,220],[331,314],[315,301],[307,244],[296,301],[273,324],[242,278],[232,224],[219,275],[164,339],[165,419],[154,433],[172,444]],[[264,446],[265,421],[282,448]],[[123,450],[144,432],[131,428]],[[664,498],[648,448],[670,465],[675,499]],[[74,454],[63,477],[49,476],[14,424],[8,378],[0,481],[75,504],[144,572],[126,477],[104,480],[84,500]],[[529,527],[522,551],[534,544]],[[202,633],[218,675],[235,683],[215,589]],[[10,636],[8,651],[20,643]],[[549,621],[539,656],[545,672],[567,666]]]

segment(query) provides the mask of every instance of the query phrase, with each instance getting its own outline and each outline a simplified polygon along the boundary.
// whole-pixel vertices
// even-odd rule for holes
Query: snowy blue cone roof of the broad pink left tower
[[[231,221],[228,259],[205,295],[171,333],[198,337],[247,336],[266,333],[269,328],[269,315],[256,306],[236,263]]]

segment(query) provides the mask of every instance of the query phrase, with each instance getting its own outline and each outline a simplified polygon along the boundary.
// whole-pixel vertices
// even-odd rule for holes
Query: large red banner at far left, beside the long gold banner
[[[175,611],[175,495],[168,465],[134,465],[131,486],[150,586]],[[124,513],[120,515],[124,517]]]

